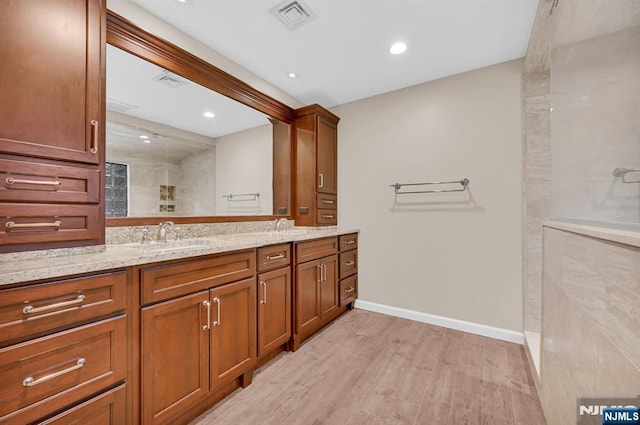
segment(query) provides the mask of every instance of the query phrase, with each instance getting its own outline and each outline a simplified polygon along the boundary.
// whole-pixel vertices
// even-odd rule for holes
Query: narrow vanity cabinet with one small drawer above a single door
[[[291,339],[291,245],[258,248],[258,358]]]

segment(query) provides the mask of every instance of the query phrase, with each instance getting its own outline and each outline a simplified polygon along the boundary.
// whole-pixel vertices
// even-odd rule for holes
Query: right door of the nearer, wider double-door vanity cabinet
[[[211,388],[256,363],[256,279],[211,290]]]

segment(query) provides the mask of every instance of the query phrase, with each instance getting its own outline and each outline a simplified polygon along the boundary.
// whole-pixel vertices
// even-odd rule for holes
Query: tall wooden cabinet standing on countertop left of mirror
[[[105,17],[0,2],[0,252],[104,243]]]

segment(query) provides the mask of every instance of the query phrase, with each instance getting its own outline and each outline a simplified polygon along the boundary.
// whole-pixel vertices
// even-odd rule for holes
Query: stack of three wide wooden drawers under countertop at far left
[[[0,291],[0,423],[128,422],[126,287],[115,271]]]

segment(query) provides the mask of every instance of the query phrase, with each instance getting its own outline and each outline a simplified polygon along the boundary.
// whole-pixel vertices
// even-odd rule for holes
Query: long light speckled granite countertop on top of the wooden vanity
[[[88,253],[62,254],[62,250],[39,251],[25,260],[0,259],[0,286],[40,279],[96,272],[139,264],[178,260],[200,255],[257,248],[284,242],[305,241],[330,236],[357,233],[358,229],[291,229],[280,232],[235,233],[171,241],[167,244],[139,243],[106,245]]]

